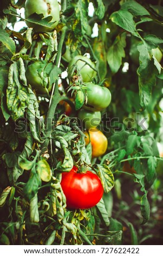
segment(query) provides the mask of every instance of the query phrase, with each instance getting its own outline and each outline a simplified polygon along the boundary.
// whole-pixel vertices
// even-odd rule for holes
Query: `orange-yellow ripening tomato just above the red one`
[[[89,133],[89,134],[88,134]],[[90,129],[84,132],[86,145],[90,142],[92,145],[92,158],[105,154],[108,147],[107,137],[98,129]]]

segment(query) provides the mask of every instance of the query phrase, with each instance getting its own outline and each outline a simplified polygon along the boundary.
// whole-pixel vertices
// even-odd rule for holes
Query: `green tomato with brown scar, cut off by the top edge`
[[[25,2],[25,19],[32,14],[43,14],[44,18],[52,16],[50,22],[54,22],[51,28],[26,21],[28,27],[33,27],[36,32],[50,32],[58,25],[60,20],[60,7],[57,0],[27,0]]]

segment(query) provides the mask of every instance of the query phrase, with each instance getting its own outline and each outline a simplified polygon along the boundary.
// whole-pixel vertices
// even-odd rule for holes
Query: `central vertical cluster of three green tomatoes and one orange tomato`
[[[86,86],[87,103],[78,113],[81,126],[88,132],[86,135],[86,145],[92,145],[92,158],[103,155],[107,150],[107,138],[103,133],[96,129],[101,122],[101,111],[107,108],[111,101],[110,90],[92,82],[96,75],[95,64],[86,56],[75,56],[68,65],[68,74],[72,75],[76,69],[82,76],[82,82]]]

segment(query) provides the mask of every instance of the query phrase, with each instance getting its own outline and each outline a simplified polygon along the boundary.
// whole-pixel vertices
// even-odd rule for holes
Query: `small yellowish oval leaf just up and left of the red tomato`
[[[37,162],[37,172],[43,181],[49,182],[51,180],[52,172],[49,163],[46,160],[40,160]]]

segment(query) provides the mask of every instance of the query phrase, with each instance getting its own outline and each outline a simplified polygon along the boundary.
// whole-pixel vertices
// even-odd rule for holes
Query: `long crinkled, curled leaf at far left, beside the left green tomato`
[[[7,89],[7,106],[12,119],[24,117],[25,109],[29,103],[29,92],[25,78],[24,63],[21,58],[9,68]]]

